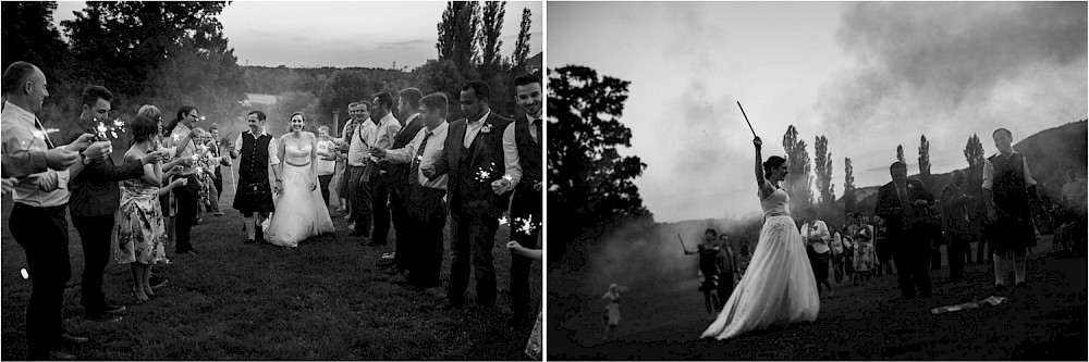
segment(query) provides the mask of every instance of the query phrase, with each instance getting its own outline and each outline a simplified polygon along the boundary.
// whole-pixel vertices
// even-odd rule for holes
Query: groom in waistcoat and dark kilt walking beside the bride
[[[249,132],[238,135],[231,150],[231,158],[242,157],[238,163],[238,189],[234,197],[234,209],[242,212],[246,219],[246,244],[256,240],[265,241],[264,235],[258,235],[260,225],[276,211],[272,203],[272,188],[269,186],[269,170],[276,175],[277,189],[280,189],[280,175],[277,167],[276,138],[265,130],[265,112],[252,111],[246,117]],[[257,214],[256,224],[254,214]],[[262,233],[264,234],[264,233]]]

